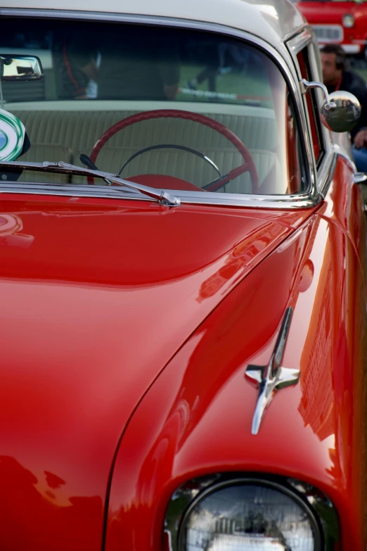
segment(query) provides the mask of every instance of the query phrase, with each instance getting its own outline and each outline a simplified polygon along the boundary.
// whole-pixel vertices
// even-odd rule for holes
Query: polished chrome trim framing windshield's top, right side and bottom
[[[245,39],[266,52],[272,60],[278,65],[283,72],[285,82],[288,84],[288,89],[292,94],[292,98],[297,106],[297,113],[300,115],[300,120],[297,121],[300,138],[302,142],[302,149],[304,150],[305,158],[302,157],[304,165],[304,174],[307,177],[307,193],[294,196],[255,196],[250,195],[249,198],[243,199],[243,196],[238,194],[231,194],[233,196],[231,201],[228,200],[230,194],[207,194],[207,197],[202,200],[199,196],[193,192],[189,196],[184,191],[174,190],[175,195],[181,198],[183,203],[202,203],[212,205],[233,205],[233,206],[251,206],[253,208],[310,208],[318,204],[323,197],[318,192],[316,185],[316,170],[314,167],[313,154],[311,152],[311,144],[309,141],[309,131],[307,125],[307,118],[304,113],[304,103],[302,94],[300,91],[300,85],[298,82],[297,72],[295,65],[292,63],[292,56],[287,48],[287,45],[283,42],[279,42],[280,51],[275,49],[271,44],[266,42],[260,37],[250,34],[250,32],[235,29],[233,27],[227,27],[226,25],[220,25],[219,23],[206,23],[202,21],[193,21],[179,18],[166,18],[164,16],[157,15],[131,15],[126,13],[104,13],[94,11],[72,11],[72,10],[53,10],[53,9],[35,9],[35,8],[0,8],[0,16],[20,16],[20,17],[34,17],[34,18],[57,18],[57,19],[80,19],[80,20],[98,20],[105,22],[121,22],[121,23],[141,23],[146,25],[165,25],[172,27],[186,27],[188,29],[204,30],[209,32],[215,32],[220,34],[227,34],[228,36]],[[304,27],[295,31],[295,35],[302,33]],[[77,195],[76,190],[78,187],[74,187],[72,193],[73,196]],[[179,193],[178,193],[179,191]],[[18,192],[20,193],[20,192]],[[171,190],[172,193],[172,190]],[[208,197],[210,195],[210,197]],[[93,195],[89,195],[93,196]],[[98,196],[101,196],[98,194]],[[214,197],[212,197],[214,196]],[[188,197],[190,200],[188,201]],[[120,198],[118,196],[117,198]],[[136,196],[134,196],[136,198]],[[260,202],[260,204],[258,204]]]

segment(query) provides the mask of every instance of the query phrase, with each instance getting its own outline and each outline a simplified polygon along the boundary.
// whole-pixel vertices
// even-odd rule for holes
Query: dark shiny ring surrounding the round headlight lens
[[[191,479],[176,489],[169,500],[166,509],[163,531],[169,534],[170,551],[187,551],[180,545],[180,534],[184,528],[184,520],[195,504],[213,491],[236,483],[259,483],[273,486],[288,493],[302,506],[311,512],[316,519],[322,535],[318,550],[334,551],[335,544],[340,542],[340,523],[333,502],[326,494],[311,484],[284,476],[274,476],[259,472],[226,472],[198,479]]]

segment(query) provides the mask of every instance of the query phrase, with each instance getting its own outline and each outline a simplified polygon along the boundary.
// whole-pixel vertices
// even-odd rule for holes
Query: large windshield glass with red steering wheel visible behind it
[[[2,82],[4,109],[29,138],[18,160],[84,166],[84,155],[124,179],[201,193],[303,189],[285,80],[246,42],[173,27],[7,18],[0,54],[11,53],[37,56],[44,74]],[[108,185],[30,171],[17,178]]]

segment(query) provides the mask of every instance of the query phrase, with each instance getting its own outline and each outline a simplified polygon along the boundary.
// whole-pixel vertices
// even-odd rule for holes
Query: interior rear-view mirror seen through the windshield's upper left
[[[2,81],[39,80],[44,76],[42,65],[36,56],[15,56],[0,53],[0,77]]]

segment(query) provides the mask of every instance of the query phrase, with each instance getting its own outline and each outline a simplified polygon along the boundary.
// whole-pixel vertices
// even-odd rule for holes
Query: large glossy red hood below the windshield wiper
[[[113,456],[139,400],[310,214],[3,196],[2,550],[101,548]]]

